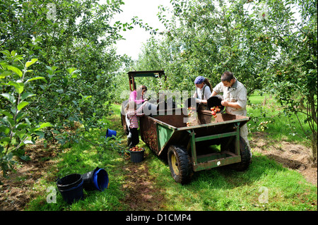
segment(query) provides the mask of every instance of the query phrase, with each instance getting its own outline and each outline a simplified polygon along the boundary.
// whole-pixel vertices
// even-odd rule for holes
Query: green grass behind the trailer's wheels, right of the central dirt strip
[[[223,167],[196,172],[186,186],[175,183],[158,160],[152,160],[151,173],[164,189],[164,210],[317,210],[317,187],[261,154],[254,154],[247,171]],[[268,202],[259,201],[261,196],[268,196]]]

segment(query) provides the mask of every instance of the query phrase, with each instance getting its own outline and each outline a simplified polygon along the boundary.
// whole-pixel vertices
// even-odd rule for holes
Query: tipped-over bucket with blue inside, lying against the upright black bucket
[[[93,171],[83,174],[83,188],[85,190],[100,190],[108,188],[108,174],[105,169],[96,167]]]

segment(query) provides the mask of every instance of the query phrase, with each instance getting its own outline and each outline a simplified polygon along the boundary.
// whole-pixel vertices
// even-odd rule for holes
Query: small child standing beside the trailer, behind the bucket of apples
[[[131,142],[128,147],[135,147],[139,143],[139,133],[138,133],[138,118],[137,116],[143,116],[143,103],[139,109],[135,101],[128,102],[126,106],[126,116],[129,120],[129,132],[131,133]]]

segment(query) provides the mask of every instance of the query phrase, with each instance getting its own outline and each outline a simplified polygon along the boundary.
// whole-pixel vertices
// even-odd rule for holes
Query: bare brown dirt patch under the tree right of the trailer
[[[310,149],[290,142],[269,142],[266,133],[253,133],[249,143],[253,152],[261,152],[289,169],[295,169],[317,186],[317,164],[309,160]]]

